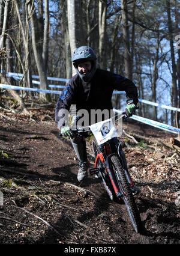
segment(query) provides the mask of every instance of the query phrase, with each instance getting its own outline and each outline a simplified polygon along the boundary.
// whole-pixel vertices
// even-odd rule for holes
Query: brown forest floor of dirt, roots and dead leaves
[[[111,201],[100,180],[89,175],[79,186],[76,155],[59,137],[54,108],[34,106],[31,118],[1,109],[0,244],[179,244],[180,157],[166,146],[176,135],[124,123],[133,138],[122,136],[123,149],[141,190],[136,204],[145,231],[137,234],[124,204]],[[136,135],[151,142],[136,142]],[[93,166],[89,141],[87,150]]]

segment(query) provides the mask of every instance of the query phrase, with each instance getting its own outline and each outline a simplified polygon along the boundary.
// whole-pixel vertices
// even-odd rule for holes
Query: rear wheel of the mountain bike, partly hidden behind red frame
[[[92,138],[92,150],[94,152],[94,156],[95,156],[95,159],[96,159],[97,154],[100,154],[101,151],[100,151],[100,148],[98,147],[98,144],[97,144],[97,141],[95,140],[95,138]],[[115,192],[114,192],[112,184],[109,180],[109,175],[107,174],[106,166],[104,165],[103,162],[101,162],[100,158],[97,160],[97,166],[96,167],[101,168],[101,171],[100,171],[101,180],[102,180],[103,185],[104,185],[104,187],[107,191],[107,194],[110,197],[110,200],[113,200],[115,198]]]

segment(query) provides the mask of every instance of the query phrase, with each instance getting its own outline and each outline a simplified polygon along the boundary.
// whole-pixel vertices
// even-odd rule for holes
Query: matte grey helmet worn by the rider
[[[77,68],[77,65],[86,61],[91,61],[91,70],[88,74],[81,74]],[[74,50],[72,62],[80,78],[85,82],[89,82],[97,70],[97,57],[94,50],[89,46],[80,46]]]

